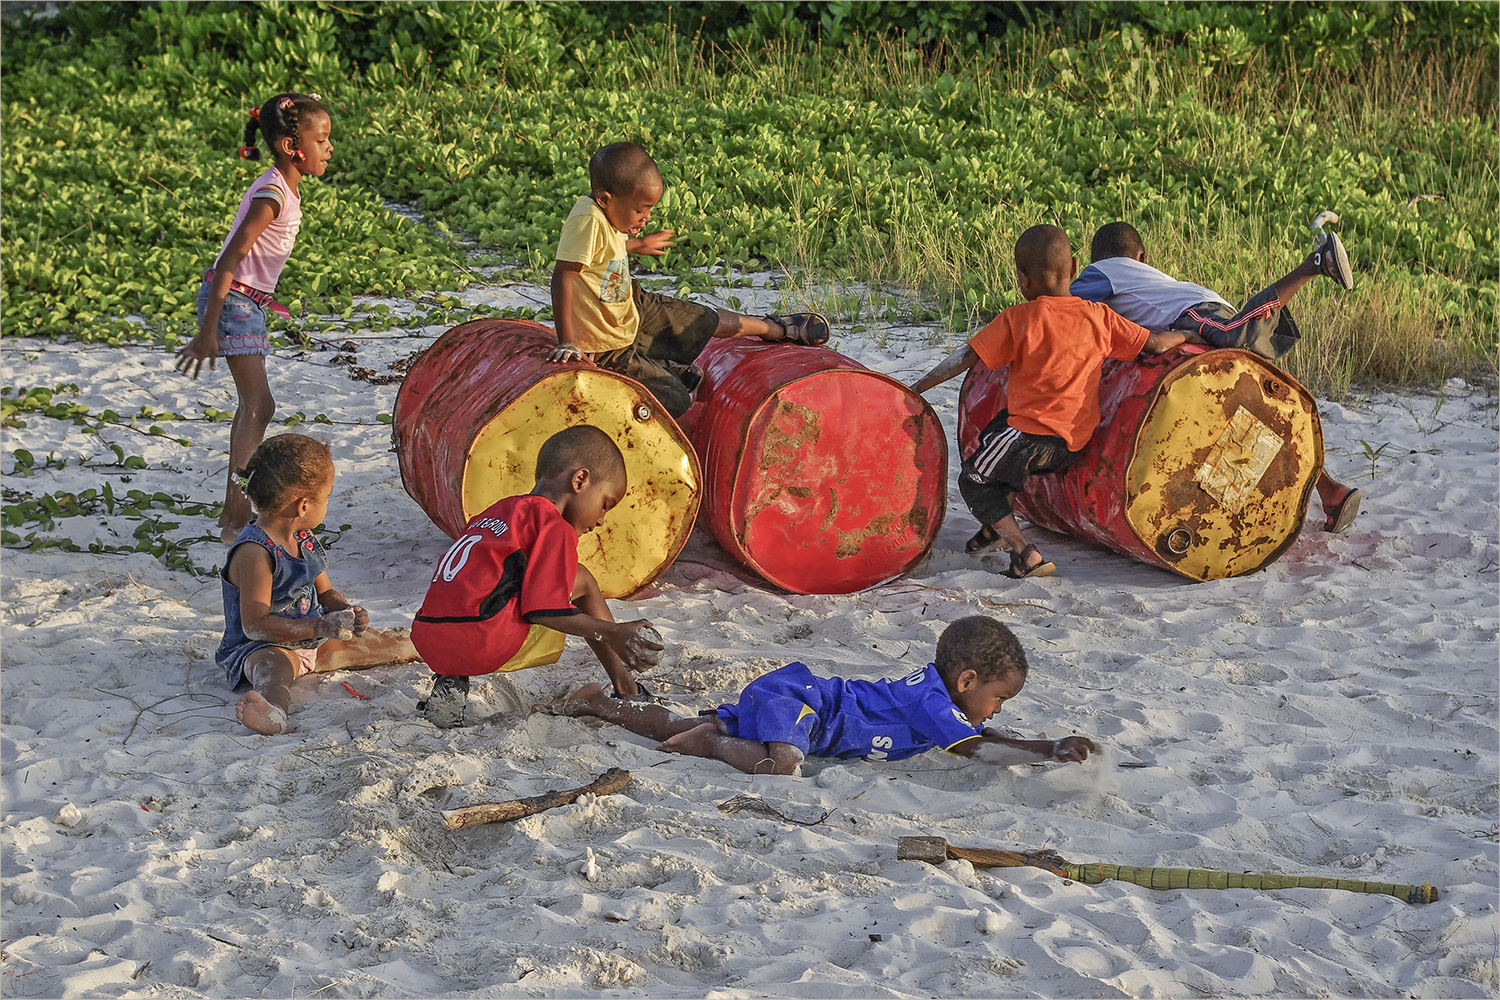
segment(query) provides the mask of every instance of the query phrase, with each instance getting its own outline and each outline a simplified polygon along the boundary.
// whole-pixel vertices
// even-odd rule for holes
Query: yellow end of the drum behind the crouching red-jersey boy
[[[464,516],[530,493],[542,442],[576,424],[598,427],[626,456],[626,496],[603,525],[578,540],[578,558],[604,597],[628,597],[666,571],[687,543],[702,472],[676,423],[624,376],[561,370],[484,424],[464,466]]]

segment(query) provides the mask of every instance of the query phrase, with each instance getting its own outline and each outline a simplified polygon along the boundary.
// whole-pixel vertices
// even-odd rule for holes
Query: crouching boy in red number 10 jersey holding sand
[[[632,670],[656,666],[651,622],[616,622],[594,574],[578,564],[578,537],[626,495],[626,460],[598,427],[546,439],[537,481],[470,522],[432,574],[411,642],[435,675],[423,705],[440,729],[462,724],[470,678],[555,663],[562,636],[582,636],[615,696],[639,697]]]

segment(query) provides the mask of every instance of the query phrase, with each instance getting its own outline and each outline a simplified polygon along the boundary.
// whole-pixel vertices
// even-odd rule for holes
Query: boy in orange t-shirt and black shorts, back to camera
[[[1174,330],[1150,333],[1107,306],[1076,298],[1068,283],[1077,273],[1066,232],[1058,226],[1023,232],[1016,241],[1016,282],[1026,301],[1002,312],[912,385],[926,393],[976,361],[990,369],[1011,366],[1006,409],[963,460],[958,492],[981,525],[964,550],[984,552],[1004,540],[1011,549],[1006,576],[1014,580],[1052,576],[1058,568],[1026,541],[1011,504],[1028,477],[1066,471],[1089,444],[1100,424],[1104,360],[1128,361],[1143,349],[1161,354],[1190,339]]]

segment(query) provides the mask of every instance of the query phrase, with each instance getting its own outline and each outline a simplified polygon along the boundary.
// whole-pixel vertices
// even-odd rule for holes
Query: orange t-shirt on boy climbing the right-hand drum
[[[1128,361],[1149,336],[1108,306],[1042,295],[1002,312],[969,346],[992,369],[1011,366],[1005,394],[1012,427],[1058,435],[1077,451],[1100,426],[1104,358]]]

